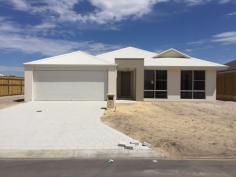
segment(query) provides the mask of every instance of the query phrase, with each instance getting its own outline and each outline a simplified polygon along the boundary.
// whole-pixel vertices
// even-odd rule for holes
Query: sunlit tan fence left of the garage
[[[0,96],[24,94],[24,78],[0,77]]]

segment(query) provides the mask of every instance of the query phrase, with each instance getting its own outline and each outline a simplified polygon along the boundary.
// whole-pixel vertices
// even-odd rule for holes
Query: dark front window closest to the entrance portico
[[[144,98],[167,98],[167,71],[144,71]]]

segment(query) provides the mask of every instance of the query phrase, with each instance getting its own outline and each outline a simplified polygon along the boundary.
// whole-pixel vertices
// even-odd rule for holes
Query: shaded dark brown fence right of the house
[[[217,74],[217,99],[236,101],[236,71]]]

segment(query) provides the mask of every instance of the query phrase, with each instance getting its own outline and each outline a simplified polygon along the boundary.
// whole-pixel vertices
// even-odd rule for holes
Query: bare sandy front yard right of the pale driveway
[[[236,102],[118,104],[102,120],[169,158],[236,158]]]

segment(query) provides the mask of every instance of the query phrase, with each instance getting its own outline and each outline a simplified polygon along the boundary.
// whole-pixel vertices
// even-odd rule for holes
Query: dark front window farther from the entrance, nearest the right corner
[[[205,99],[205,71],[181,71],[181,98]]]

